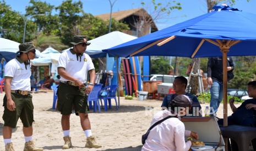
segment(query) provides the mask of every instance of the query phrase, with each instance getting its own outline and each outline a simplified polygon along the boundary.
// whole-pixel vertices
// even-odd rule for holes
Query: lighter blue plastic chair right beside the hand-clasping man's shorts
[[[99,112],[100,112],[100,102],[99,102],[99,97],[98,97],[99,94],[100,94],[100,90],[101,90],[101,84],[96,84],[96,85],[94,85],[94,88],[92,89],[92,91],[88,95],[87,101],[89,102],[89,108],[92,109],[92,102],[93,102],[94,112],[97,111],[97,107],[98,107]]]

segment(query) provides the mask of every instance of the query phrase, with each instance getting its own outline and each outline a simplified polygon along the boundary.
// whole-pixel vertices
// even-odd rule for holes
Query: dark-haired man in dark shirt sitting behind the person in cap
[[[170,101],[173,100],[177,95],[187,95],[193,101],[192,108],[189,110],[189,114],[201,116],[201,113],[197,115],[197,112],[199,112],[201,109],[200,103],[195,95],[186,92],[187,84],[188,80],[185,77],[175,77],[175,80],[173,81],[173,89],[175,90],[176,94],[167,95],[164,98],[161,107],[167,108]]]

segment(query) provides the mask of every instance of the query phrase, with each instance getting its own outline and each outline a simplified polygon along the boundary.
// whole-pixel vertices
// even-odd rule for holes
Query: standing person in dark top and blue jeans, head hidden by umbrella
[[[234,69],[233,60],[227,57],[227,71],[232,72]],[[207,65],[207,82],[211,86],[211,114],[217,112],[223,97],[223,67],[222,57],[210,57]],[[214,110],[214,113],[213,113]]]

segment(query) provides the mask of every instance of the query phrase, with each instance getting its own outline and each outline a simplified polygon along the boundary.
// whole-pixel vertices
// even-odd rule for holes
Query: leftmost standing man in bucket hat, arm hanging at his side
[[[35,58],[35,51],[32,43],[20,44],[17,56],[10,60],[4,69],[6,95],[3,100],[3,138],[8,151],[14,150],[11,140],[12,129],[16,127],[19,118],[23,123],[24,150],[43,150],[35,147],[34,141],[32,141],[34,106],[32,95],[30,95],[30,60]]]

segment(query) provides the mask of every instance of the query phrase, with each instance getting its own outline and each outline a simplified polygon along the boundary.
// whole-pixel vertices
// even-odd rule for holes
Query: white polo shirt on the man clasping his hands
[[[91,57],[88,54],[83,53],[80,61],[80,57],[78,56],[77,59],[77,54],[75,54],[73,50],[68,50],[59,56],[58,68],[59,67],[65,68],[68,74],[85,83],[87,81],[88,71],[94,69],[94,63],[92,63]],[[68,81],[63,77],[59,80]]]

